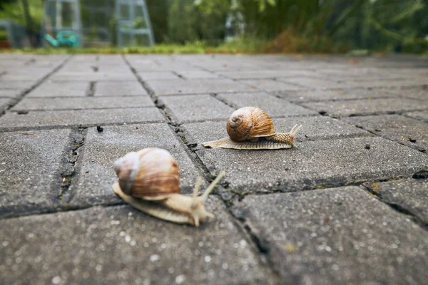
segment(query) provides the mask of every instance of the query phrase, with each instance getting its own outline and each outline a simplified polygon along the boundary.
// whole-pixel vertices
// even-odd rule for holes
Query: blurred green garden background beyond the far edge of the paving
[[[0,0],[0,48],[427,53],[427,15],[428,0]]]

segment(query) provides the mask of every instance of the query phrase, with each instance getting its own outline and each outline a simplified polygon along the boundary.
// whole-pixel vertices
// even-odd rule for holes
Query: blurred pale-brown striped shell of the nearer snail
[[[132,197],[161,200],[180,193],[177,162],[161,148],[129,152],[114,162],[114,170],[121,190]]]

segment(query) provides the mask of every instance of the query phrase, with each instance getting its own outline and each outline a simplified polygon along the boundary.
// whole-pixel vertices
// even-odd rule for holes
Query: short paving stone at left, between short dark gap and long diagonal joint
[[[97,82],[96,96],[148,95],[138,81]]]

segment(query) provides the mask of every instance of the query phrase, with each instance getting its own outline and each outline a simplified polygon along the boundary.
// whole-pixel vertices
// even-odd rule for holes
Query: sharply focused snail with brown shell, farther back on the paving
[[[278,150],[295,147],[294,138],[302,125],[295,125],[290,133],[276,133],[269,115],[260,108],[243,107],[230,115],[226,130],[229,138],[203,142],[204,147],[233,148],[235,150]]]

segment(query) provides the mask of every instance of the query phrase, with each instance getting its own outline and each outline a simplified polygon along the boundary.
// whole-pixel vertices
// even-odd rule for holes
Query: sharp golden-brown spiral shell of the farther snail
[[[269,115],[256,107],[235,110],[228,119],[226,130],[230,139],[238,142],[275,135],[275,128]]]

